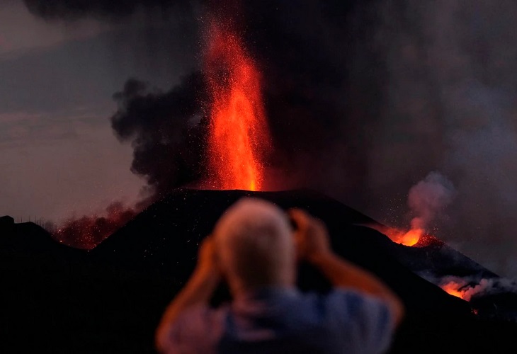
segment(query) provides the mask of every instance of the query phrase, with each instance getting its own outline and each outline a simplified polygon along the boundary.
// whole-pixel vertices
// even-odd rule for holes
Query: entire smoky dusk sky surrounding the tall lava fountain
[[[424,217],[517,278],[511,0],[4,0],[0,215],[59,222],[200,178],[207,9],[235,18],[263,74],[273,188]],[[445,204],[408,199],[436,183]]]

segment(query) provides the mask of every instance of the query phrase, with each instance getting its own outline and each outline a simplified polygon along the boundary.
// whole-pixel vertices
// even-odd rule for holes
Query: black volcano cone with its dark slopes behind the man
[[[193,270],[200,241],[243,197],[300,207],[319,217],[336,253],[372,271],[402,297],[407,318],[391,353],[513,353],[517,295],[467,302],[423,278],[498,278],[443,242],[395,244],[376,231],[382,225],[375,220],[311,190],[188,189],[154,202],[89,252],[59,244],[35,224],[2,218],[1,279],[7,297],[1,352],[153,353],[154,329]],[[303,291],[329,290],[309,265],[300,265],[298,282]],[[227,299],[222,285],[212,300]]]

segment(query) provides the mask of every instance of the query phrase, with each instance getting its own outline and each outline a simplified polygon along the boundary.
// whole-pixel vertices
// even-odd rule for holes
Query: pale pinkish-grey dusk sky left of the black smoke
[[[137,200],[145,183],[110,127],[111,97],[130,76],[174,85],[197,47],[181,33],[153,36],[161,24],[136,17],[47,23],[22,0],[2,1],[0,215],[59,221]]]

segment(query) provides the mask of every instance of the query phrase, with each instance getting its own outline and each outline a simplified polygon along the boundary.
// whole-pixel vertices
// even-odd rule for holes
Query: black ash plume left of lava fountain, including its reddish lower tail
[[[167,92],[130,79],[113,95],[118,103],[110,118],[113,131],[121,142],[132,144],[131,171],[147,181],[143,199],[134,206],[113,202],[102,215],[71,217],[52,232],[58,241],[93,249],[161,196],[195,186],[205,166],[204,84],[197,72]]]

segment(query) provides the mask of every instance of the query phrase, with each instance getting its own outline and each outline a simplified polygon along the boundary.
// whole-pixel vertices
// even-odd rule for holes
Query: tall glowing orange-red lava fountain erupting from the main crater
[[[263,156],[270,149],[261,75],[242,40],[212,21],[205,74],[211,95],[210,188],[261,190]]]

